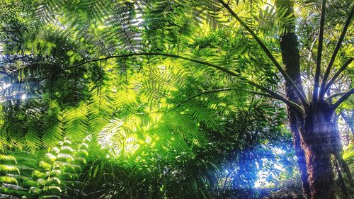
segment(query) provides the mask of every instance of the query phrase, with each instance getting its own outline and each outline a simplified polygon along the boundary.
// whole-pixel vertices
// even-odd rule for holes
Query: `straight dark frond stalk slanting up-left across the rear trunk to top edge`
[[[258,38],[258,36],[256,35],[256,33],[253,32],[253,30],[251,28],[249,28],[249,25],[247,25],[246,23],[244,23],[244,21],[241,20],[241,18],[239,18],[239,16],[237,16],[237,14],[232,10],[232,8],[229,7],[229,5],[227,5],[224,1],[222,0],[218,0],[220,4],[222,4],[222,6],[224,6],[224,8],[227,9],[227,11],[229,11],[229,13],[232,14],[232,16],[234,16],[234,18],[236,18],[236,21],[239,21],[239,23],[244,26],[244,28],[252,35],[252,37],[256,40],[256,42],[258,42],[258,45],[261,46],[262,50],[265,52],[265,54],[270,58],[270,60],[273,62],[273,64],[275,65],[275,67],[278,69],[278,71],[280,72],[280,74],[282,74],[282,76],[284,76],[285,80],[290,82],[290,84],[292,84],[292,86],[294,86],[295,91],[297,91],[297,94],[300,98],[300,100],[302,101],[302,103],[304,105],[308,105],[306,96],[304,95],[304,91],[300,90],[299,87],[296,86],[295,82],[292,81],[292,79],[290,78],[290,76],[285,72],[284,69],[282,69],[282,67],[280,66],[279,62],[275,59],[275,57],[272,55],[272,53],[270,52],[270,50],[268,50],[268,47],[266,47],[264,45],[264,43],[261,41],[260,38]]]

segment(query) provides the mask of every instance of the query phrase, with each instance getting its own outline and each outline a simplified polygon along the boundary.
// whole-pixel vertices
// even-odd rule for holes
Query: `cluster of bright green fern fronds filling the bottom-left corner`
[[[76,143],[64,139],[50,152],[15,150],[1,155],[1,194],[8,198],[80,198],[78,179],[89,142],[89,137]]]

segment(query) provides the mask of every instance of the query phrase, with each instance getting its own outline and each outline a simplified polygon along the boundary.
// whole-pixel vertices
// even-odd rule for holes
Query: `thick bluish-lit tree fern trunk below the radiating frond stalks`
[[[301,135],[307,165],[311,198],[334,198],[334,175],[331,164],[337,139],[329,106],[321,102],[309,108]]]

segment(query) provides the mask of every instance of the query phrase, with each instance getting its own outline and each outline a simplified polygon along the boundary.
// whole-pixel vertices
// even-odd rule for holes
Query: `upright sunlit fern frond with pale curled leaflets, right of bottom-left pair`
[[[74,197],[75,189],[81,186],[77,179],[81,165],[86,163],[86,142],[89,141],[89,138],[85,138],[79,144],[72,144],[67,139],[59,142],[57,147],[45,154],[45,160],[39,162],[40,168],[33,172],[37,186],[31,187],[30,191],[40,195],[40,198],[62,198],[65,195]]]

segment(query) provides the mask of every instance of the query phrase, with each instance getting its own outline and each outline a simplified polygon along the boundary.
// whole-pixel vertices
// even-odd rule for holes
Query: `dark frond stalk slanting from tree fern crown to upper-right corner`
[[[347,18],[347,20],[346,20],[346,24],[345,24],[344,27],[343,27],[341,36],[339,36],[338,42],[337,42],[337,44],[336,44],[336,48],[334,49],[333,54],[332,54],[332,57],[331,57],[331,60],[329,61],[329,65],[328,65],[327,68],[326,68],[326,72],[324,73],[324,78],[322,79],[321,88],[319,89],[319,98],[320,98],[320,99],[324,98],[324,94],[326,93],[326,90],[325,90],[326,81],[327,81],[327,79],[329,78],[329,73],[331,72],[331,68],[332,68],[332,66],[333,66],[333,62],[334,62],[334,60],[336,59],[338,50],[339,50],[339,48],[340,48],[341,45],[342,45],[344,36],[346,35],[346,32],[347,32],[348,27],[349,27],[349,25],[350,25],[350,21],[351,21],[352,18],[353,18],[353,13],[354,13],[354,4],[353,4],[353,6],[352,6],[352,8],[351,8],[351,10],[350,10],[349,16],[348,16],[348,18]]]

